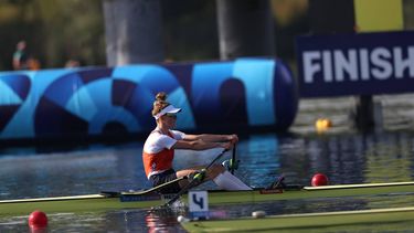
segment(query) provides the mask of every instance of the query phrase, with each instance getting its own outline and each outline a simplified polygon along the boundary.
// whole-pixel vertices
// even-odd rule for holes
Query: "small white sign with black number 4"
[[[189,192],[189,210],[192,219],[209,218],[209,195],[206,191]]]

